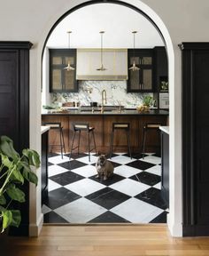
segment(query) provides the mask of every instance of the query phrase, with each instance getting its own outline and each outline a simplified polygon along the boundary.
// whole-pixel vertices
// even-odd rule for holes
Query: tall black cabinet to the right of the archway
[[[182,43],[183,236],[209,236],[209,43]]]

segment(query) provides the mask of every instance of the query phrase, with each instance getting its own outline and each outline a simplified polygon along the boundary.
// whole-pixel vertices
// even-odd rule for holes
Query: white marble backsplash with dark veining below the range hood
[[[79,81],[79,92],[51,93],[51,103],[79,102],[81,105],[90,105],[90,102],[102,102],[102,91],[106,91],[106,105],[122,105],[132,108],[142,103],[144,94],[127,93],[127,81]]]

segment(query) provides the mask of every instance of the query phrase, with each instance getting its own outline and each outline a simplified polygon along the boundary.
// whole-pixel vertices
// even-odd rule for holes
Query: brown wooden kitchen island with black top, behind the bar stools
[[[166,110],[150,110],[149,112],[140,113],[137,110],[125,109],[122,111],[112,110],[85,111],[70,110],[67,113],[43,113],[43,122],[61,122],[64,132],[64,140],[66,145],[66,152],[70,151],[74,122],[88,122],[90,126],[95,127],[95,139],[97,151],[108,154],[110,147],[110,139],[112,132],[112,123],[126,122],[130,124],[130,144],[132,152],[139,152],[142,145],[143,125],[145,123],[161,123],[167,125],[168,111]],[[87,152],[87,135],[81,135],[81,152]],[[85,138],[86,136],[86,138]],[[50,144],[59,144],[58,133],[50,131]],[[77,143],[77,141],[75,141]],[[127,152],[127,137],[124,131],[115,132],[113,152]],[[74,144],[75,145],[75,144]],[[147,136],[146,152],[156,152],[159,148],[159,136],[157,132],[151,131]],[[52,152],[58,152],[59,148],[52,148]]]

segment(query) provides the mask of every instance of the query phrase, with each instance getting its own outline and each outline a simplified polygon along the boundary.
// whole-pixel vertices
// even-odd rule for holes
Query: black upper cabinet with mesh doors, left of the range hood
[[[78,92],[76,49],[50,49],[50,92]],[[74,70],[67,70],[70,63]]]

